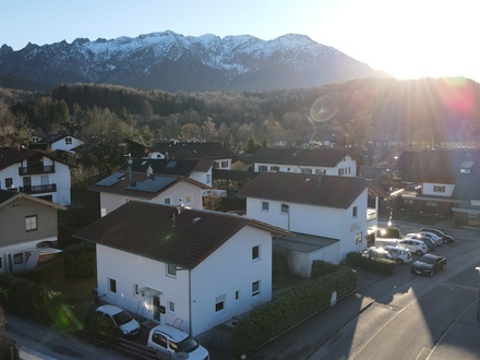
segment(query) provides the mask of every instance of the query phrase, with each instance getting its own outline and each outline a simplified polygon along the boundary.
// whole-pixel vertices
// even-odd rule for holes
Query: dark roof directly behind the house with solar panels
[[[168,159],[156,159],[156,158],[132,158],[132,170],[143,171],[146,173],[148,166],[152,167],[154,173],[163,175],[180,175],[188,177],[193,171],[207,172],[213,166],[214,160],[212,159],[197,159],[197,160],[168,160]],[[129,164],[125,163],[120,167],[120,170],[127,171],[129,169]]]

